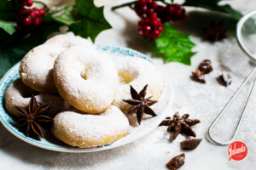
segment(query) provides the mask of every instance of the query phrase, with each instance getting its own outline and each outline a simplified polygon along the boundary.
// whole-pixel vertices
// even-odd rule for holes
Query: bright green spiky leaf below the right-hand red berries
[[[154,52],[164,54],[166,62],[177,61],[185,65],[191,65],[190,58],[195,54],[191,49],[195,43],[189,40],[189,35],[184,35],[175,30],[170,24],[164,24],[164,31],[155,40]]]

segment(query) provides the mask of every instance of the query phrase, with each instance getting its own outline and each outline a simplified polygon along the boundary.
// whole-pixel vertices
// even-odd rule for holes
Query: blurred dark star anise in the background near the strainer
[[[224,20],[221,20],[216,24],[214,21],[211,21],[210,26],[204,26],[202,28],[204,32],[204,38],[209,40],[210,42],[217,42],[218,40],[222,40],[226,35],[226,29],[223,28]]]

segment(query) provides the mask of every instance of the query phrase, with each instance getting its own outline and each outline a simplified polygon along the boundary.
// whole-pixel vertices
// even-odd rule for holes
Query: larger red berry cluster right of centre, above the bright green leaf
[[[138,34],[149,39],[160,37],[163,22],[183,20],[186,17],[185,9],[177,3],[164,7],[154,0],[138,0],[134,4],[134,10],[142,18],[138,23]]]

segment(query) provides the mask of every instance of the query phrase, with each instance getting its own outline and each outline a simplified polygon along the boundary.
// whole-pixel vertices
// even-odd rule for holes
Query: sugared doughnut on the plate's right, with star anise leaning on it
[[[119,107],[121,111],[127,111],[128,105],[123,99],[131,99],[131,86],[139,93],[148,84],[147,95],[158,99],[165,84],[165,77],[148,60],[126,57],[114,59],[119,74],[119,87],[114,98],[113,105]]]

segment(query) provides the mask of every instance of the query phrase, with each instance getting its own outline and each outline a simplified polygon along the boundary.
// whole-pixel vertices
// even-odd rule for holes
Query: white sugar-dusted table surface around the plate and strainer
[[[177,1],[181,3],[182,1]],[[122,1],[115,2],[115,4]],[[246,14],[256,8],[254,0],[224,1],[230,3],[234,8]],[[222,110],[232,94],[240,86],[241,82],[252,71],[253,64],[247,56],[241,52],[236,43],[235,34],[229,32],[229,37],[223,42],[203,42],[201,40],[200,27],[207,25],[207,20],[218,19],[221,14],[205,12],[199,8],[187,8],[190,12],[186,20],[176,23],[180,31],[191,33],[190,39],[195,42],[194,51],[198,51],[192,58],[192,65],[179,63],[163,64],[159,62],[164,71],[172,79],[175,99],[173,111],[181,114],[189,113],[192,118],[198,118],[201,123],[193,129],[197,138],[203,139],[196,150],[184,151],[186,154],[185,164],[180,170],[228,170],[228,169],[255,169],[256,168],[256,122],[255,107],[256,92],[248,105],[247,113],[241,124],[241,130],[236,140],[247,144],[248,155],[243,161],[228,161],[228,146],[217,146],[207,140],[207,128],[213,119]],[[122,8],[111,12],[110,7],[105,8],[107,20],[113,26],[112,30],[103,31],[96,42],[125,46],[148,54],[154,45],[137,36],[137,15],[130,8]],[[195,71],[201,60],[211,59],[214,71],[206,76],[207,84],[200,84],[190,79],[191,71]],[[219,71],[230,72],[233,82],[230,87],[225,88],[218,84],[216,77]],[[234,132],[236,122],[241,115],[243,105],[246,102],[252,81],[241,92],[239,98],[234,101],[226,114],[221,118],[213,133],[219,140],[230,139]],[[94,153],[73,154],[43,150],[26,144],[9,133],[0,124],[0,169],[145,169],[162,170],[167,169],[166,163],[183,153],[180,142],[186,139],[179,135],[176,140],[169,139],[170,133],[166,133],[166,127],[157,127],[143,139],[126,144],[113,150],[105,150]]]

